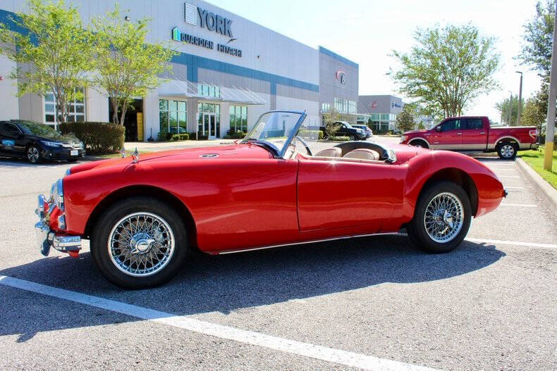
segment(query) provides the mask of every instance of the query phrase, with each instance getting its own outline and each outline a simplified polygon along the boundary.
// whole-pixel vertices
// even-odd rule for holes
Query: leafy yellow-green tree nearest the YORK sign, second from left
[[[91,21],[97,72],[92,82],[109,96],[112,122],[122,125],[133,97],[158,87],[164,81],[159,75],[171,70],[169,61],[176,55],[169,44],[146,42],[148,18],[124,19],[116,4],[114,11]]]

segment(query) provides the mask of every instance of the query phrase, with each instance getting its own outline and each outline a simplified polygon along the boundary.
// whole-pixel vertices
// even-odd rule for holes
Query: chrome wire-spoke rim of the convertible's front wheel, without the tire
[[[133,213],[116,222],[109,234],[112,263],[133,277],[160,272],[174,253],[174,234],[159,215]]]

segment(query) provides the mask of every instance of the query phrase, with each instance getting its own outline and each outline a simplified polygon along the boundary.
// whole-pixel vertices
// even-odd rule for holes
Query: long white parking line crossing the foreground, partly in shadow
[[[350,351],[343,351],[341,349],[329,348],[326,346],[319,346],[310,343],[303,343],[302,341],[295,341],[290,339],[283,339],[281,337],[274,337],[267,334],[260,334],[259,332],[247,331],[235,327],[228,327],[224,325],[217,325],[216,323],[197,320],[185,315],[172,315],[171,313],[161,312],[140,306],[133,306],[131,304],[121,303],[99,296],[92,296],[82,294],[76,291],[69,291],[50,287],[44,284],[37,284],[35,282],[25,281],[13,277],[0,275],[0,284],[8,287],[16,287],[17,289],[35,292],[37,294],[52,296],[54,298],[61,298],[75,303],[93,306],[104,310],[111,310],[112,312],[130,315],[132,317],[141,318],[142,320],[152,321],[179,327],[188,331],[197,332],[200,334],[210,335],[221,339],[228,339],[239,341],[240,343],[251,344],[255,346],[262,346],[264,348],[274,349],[276,351],[283,351],[286,353],[298,354],[300,356],[316,358],[318,360],[325,360],[327,362],[338,363],[349,367],[360,367],[367,370],[377,371],[431,371],[429,367],[422,367],[412,365],[411,363],[398,362],[396,360],[388,360],[384,358],[377,358],[374,356],[367,356],[361,353],[354,353]]]

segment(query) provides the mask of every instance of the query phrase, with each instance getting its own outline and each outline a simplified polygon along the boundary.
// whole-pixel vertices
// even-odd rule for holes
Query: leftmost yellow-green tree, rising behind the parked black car
[[[17,80],[18,96],[52,92],[56,122],[66,122],[68,104],[82,99],[78,88],[87,85],[91,68],[88,33],[77,8],[66,8],[63,0],[28,0],[28,5],[28,13],[17,13],[10,20],[25,32],[13,32],[0,23],[0,52],[17,63],[10,77]]]

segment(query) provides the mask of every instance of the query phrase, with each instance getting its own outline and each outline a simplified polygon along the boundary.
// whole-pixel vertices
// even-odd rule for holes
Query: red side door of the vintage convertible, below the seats
[[[367,234],[402,207],[405,170],[386,163],[300,159],[300,232]]]

